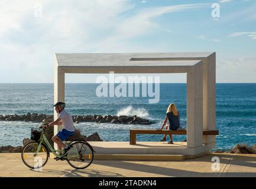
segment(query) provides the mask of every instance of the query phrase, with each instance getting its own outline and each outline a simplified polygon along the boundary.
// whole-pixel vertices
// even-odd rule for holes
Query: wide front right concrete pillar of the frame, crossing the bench
[[[203,65],[187,73],[187,148],[203,144]]]

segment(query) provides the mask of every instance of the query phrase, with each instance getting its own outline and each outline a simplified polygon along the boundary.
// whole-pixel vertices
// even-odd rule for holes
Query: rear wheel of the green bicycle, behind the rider
[[[76,169],[84,169],[92,164],[93,149],[87,142],[76,141],[70,147],[67,152],[67,162],[69,165]]]

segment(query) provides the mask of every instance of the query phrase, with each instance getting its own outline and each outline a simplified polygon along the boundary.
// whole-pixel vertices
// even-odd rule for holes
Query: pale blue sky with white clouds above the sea
[[[216,52],[217,83],[256,83],[255,9],[255,0],[0,0],[0,83],[53,83],[54,53],[204,51]]]

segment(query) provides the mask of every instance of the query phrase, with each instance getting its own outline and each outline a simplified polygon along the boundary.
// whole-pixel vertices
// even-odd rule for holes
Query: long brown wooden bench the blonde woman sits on
[[[155,129],[131,129],[130,130],[130,145],[136,144],[137,134],[173,134],[173,135],[187,135],[187,131],[170,131],[170,130],[155,130]],[[204,130],[203,135],[219,135],[218,130]]]

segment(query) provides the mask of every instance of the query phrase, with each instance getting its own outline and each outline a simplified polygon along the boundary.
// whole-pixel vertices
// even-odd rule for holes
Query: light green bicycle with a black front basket
[[[67,151],[67,155],[62,157],[61,152],[63,150],[56,150],[50,145],[45,136],[45,131],[43,125],[34,134],[33,129],[31,129],[31,139],[34,139],[34,141],[26,144],[21,152],[22,161],[27,167],[32,169],[43,167],[50,157],[50,152],[56,157],[56,160],[66,160],[69,165],[76,169],[84,169],[92,164],[93,152],[95,151],[85,139],[73,139],[65,142],[71,148]],[[34,137],[32,138],[32,136]],[[57,154],[58,152],[59,154]]]

